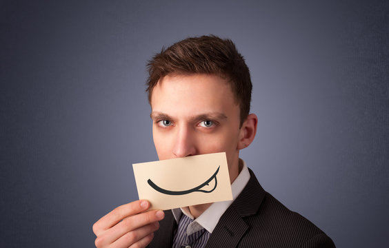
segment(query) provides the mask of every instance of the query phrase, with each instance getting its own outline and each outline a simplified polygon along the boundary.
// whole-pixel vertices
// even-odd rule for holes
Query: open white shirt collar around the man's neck
[[[248,183],[248,180],[250,180],[250,172],[248,172],[246,162],[244,162],[241,158],[239,158],[239,160],[242,161],[243,167],[237,178],[235,178],[235,180],[232,182],[232,200],[212,203],[212,205],[210,205],[210,207],[208,207],[208,209],[206,209],[206,211],[204,211],[203,214],[201,214],[195,220],[193,220],[194,217],[190,214],[188,207],[172,209],[174,219],[177,221],[177,223],[179,223],[181,214],[185,214],[193,220],[193,222],[188,226],[188,235],[194,231],[198,231],[200,228],[199,225],[212,234],[213,229],[215,229],[217,223],[219,222],[219,218],[224,214],[226,209],[230,207],[231,203],[239,196],[239,194],[241,194],[243,188]]]

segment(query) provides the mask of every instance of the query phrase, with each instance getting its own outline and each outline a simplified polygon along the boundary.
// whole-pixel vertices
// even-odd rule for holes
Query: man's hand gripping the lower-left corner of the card
[[[97,238],[96,247],[146,247],[159,228],[161,210],[146,211],[150,207],[147,200],[137,200],[121,205],[103,216],[93,225]],[[122,221],[121,221],[122,220]]]

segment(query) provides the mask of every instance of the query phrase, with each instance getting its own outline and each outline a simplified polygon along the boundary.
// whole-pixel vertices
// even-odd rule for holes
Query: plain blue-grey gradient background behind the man
[[[157,160],[146,61],[201,34],[250,68],[261,185],[337,247],[388,245],[389,1],[330,2],[1,1],[0,246],[94,246]]]

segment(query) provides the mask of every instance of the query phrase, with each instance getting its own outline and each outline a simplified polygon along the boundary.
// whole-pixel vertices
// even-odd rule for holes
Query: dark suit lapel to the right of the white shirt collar
[[[250,180],[246,187],[221,216],[219,223],[212,231],[206,248],[237,247],[239,241],[249,229],[243,217],[257,213],[265,196],[254,173],[249,169]]]

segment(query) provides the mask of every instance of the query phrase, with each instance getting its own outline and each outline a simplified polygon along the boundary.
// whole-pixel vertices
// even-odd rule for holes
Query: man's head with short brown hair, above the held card
[[[239,150],[254,139],[257,116],[248,114],[250,74],[232,41],[186,39],[154,56],[148,68],[159,159],[226,152],[235,180]]]

